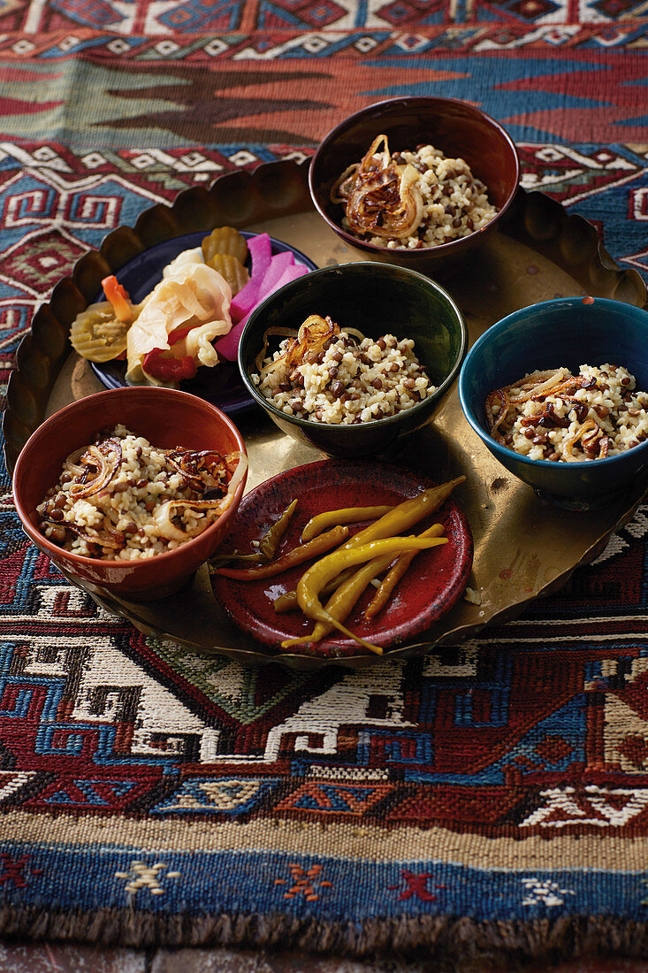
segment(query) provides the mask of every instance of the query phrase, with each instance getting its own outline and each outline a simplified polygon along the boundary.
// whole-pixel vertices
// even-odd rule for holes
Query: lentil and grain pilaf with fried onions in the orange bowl
[[[40,530],[84,557],[152,558],[215,523],[246,466],[239,452],[162,450],[120,424],[67,457],[37,507]]]

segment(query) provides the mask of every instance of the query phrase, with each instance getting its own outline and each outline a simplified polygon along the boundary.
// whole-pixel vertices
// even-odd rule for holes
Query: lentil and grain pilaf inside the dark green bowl
[[[310,340],[309,330],[316,332]],[[371,422],[412,409],[436,391],[412,339],[364,338],[329,317],[311,315],[296,339],[285,339],[269,357],[265,353],[252,381],[281,412],[312,422]]]

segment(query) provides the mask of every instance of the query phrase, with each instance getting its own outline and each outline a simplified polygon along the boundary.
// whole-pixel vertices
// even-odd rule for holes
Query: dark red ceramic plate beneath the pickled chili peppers
[[[410,470],[378,463],[331,459],[299,466],[267,480],[243,497],[221,551],[252,552],[251,542],[259,540],[296,497],[297,510],[278,556],[299,543],[304,525],[315,514],[342,507],[400,503],[426,486],[432,483]],[[416,532],[431,523],[444,523],[450,542],[417,555],[391,600],[370,622],[362,613],[374,588],[365,592],[346,620],[351,631],[383,649],[425,631],[451,608],[466,587],[473,562],[473,538],[466,518],[450,498],[440,510],[421,521]],[[306,566],[265,581],[234,581],[212,575],[212,588],[240,629],[281,651],[282,639],[312,631],[313,623],[301,612],[276,614],[273,608],[274,598],[294,589]],[[334,634],[317,644],[305,643],[288,651],[328,656],[365,652],[350,639]]]

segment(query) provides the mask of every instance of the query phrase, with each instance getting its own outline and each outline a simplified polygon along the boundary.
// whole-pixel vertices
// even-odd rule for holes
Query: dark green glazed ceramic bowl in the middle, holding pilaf
[[[414,353],[437,386],[412,409],[357,425],[325,425],[280,412],[251,376],[269,328],[297,331],[310,314],[329,315],[343,329],[370,338],[414,339]],[[274,350],[276,339],[270,350]],[[389,264],[342,264],[314,270],[271,294],[250,315],[238,346],[238,367],[250,395],[284,432],[332,456],[393,454],[437,414],[466,353],[468,336],[458,307],[429,277]]]

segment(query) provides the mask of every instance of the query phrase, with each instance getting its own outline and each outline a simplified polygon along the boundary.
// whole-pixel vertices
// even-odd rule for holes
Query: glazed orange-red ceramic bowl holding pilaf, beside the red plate
[[[245,453],[245,445],[231,419],[215,406],[187,392],[153,387],[116,388],[90,395],[52,415],[25,443],[14,470],[14,500],[29,539],[70,580],[148,601],[178,591],[218,549],[236,516],[245,477],[223,516],[174,551],[139,560],[85,558],[64,551],[39,531],[36,507],[58,480],[66,456],[90,444],[100,429],[119,422],[163,449],[185,446]]]

